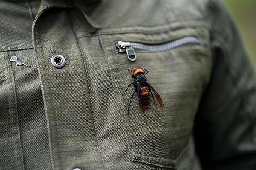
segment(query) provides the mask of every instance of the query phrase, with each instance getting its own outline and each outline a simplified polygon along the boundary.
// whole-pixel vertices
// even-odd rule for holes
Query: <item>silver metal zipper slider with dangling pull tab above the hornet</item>
[[[134,48],[131,46],[130,42],[118,41],[116,43],[116,52],[117,53],[122,53],[122,52],[125,52],[125,51],[126,51],[126,54],[127,54],[127,58],[130,61],[135,61],[137,59]]]

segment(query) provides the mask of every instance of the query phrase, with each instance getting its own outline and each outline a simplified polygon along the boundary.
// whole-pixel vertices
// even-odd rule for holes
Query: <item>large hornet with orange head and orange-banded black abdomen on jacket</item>
[[[128,115],[130,114],[130,105],[131,105],[131,99],[133,98],[134,94],[137,92],[138,94],[138,100],[139,100],[139,105],[140,109],[143,113],[146,112],[148,109],[149,103],[150,103],[150,93],[153,97],[154,104],[157,106],[155,100],[154,100],[154,95],[157,98],[158,103],[160,104],[160,107],[163,108],[163,100],[160,97],[160,95],[155,91],[155,89],[148,83],[146,79],[146,74],[148,73],[148,70],[143,69],[140,65],[139,68],[131,68],[128,69],[128,71],[131,71],[132,78],[134,79],[134,82],[128,85],[128,87],[125,89],[125,92],[127,89],[133,84],[134,85],[134,92],[130,96],[130,102],[128,105]],[[125,95],[125,92],[123,93],[122,96]],[[153,95],[153,93],[154,95]]]

